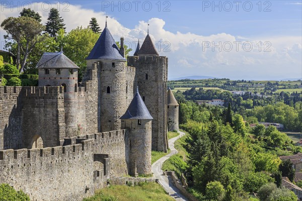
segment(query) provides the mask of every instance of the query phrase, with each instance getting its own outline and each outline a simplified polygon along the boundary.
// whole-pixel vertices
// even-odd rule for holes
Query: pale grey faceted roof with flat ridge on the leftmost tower
[[[45,52],[36,65],[37,68],[80,68],[62,52]]]

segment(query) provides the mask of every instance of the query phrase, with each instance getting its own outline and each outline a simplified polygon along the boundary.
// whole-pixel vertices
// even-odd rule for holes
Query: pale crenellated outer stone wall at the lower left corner
[[[0,182],[32,201],[82,200],[94,193],[92,141],[43,149],[0,151]]]

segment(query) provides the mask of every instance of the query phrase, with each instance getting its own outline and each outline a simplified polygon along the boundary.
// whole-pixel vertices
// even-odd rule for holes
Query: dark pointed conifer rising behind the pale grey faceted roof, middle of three
[[[63,19],[60,17],[59,11],[55,8],[50,9],[48,14],[46,31],[50,34],[51,37],[56,38],[57,33],[60,29],[66,29],[63,24]]]

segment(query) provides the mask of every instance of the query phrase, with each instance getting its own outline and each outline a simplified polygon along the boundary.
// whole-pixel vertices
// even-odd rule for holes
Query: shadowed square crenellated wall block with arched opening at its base
[[[24,148],[37,137],[43,147],[62,145],[65,138],[64,94],[62,87],[22,87],[22,131]]]

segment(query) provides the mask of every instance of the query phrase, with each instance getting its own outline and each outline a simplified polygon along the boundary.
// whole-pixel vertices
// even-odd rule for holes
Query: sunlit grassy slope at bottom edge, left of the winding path
[[[162,186],[155,182],[139,183],[136,186],[114,185],[103,188],[96,192],[92,197],[85,198],[83,201],[172,201]]]

